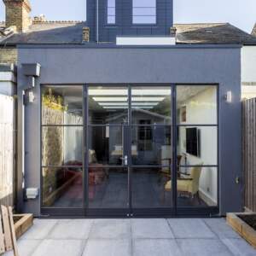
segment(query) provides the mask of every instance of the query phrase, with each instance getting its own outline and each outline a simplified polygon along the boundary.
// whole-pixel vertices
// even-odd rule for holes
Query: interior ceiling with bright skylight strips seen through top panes
[[[53,87],[51,87],[53,88]],[[209,88],[208,85],[198,86],[178,86],[177,87],[177,105],[186,102],[189,98],[195,96],[203,90]],[[55,86],[55,94],[65,97],[65,103],[71,108],[82,108],[82,87],[81,86]],[[128,108],[128,90],[123,87],[102,86],[89,88],[89,103],[91,108],[97,109],[119,109]],[[155,108],[164,103],[171,96],[171,90],[166,87],[138,87],[131,90],[131,106],[133,108]]]

